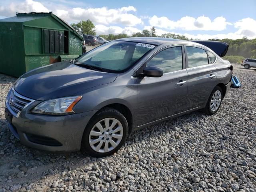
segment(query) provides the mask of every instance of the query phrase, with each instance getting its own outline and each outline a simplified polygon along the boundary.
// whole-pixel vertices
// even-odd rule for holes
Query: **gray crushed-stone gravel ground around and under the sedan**
[[[4,100],[16,78],[0,74],[0,192],[256,191],[256,72],[236,65],[213,116],[193,112],[134,132],[106,158],[27,148],[9,132]]]

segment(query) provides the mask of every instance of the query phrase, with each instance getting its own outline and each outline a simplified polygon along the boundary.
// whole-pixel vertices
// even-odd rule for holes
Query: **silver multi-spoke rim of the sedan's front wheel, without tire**
[[[119,120],[105,118],[93,126],[89,134],[89,144],[96,152],[110,152],[121,142],[123,133],[124,129]]]

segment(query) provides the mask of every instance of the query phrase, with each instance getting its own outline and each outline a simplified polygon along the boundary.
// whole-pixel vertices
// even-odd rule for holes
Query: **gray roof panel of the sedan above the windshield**
[[[117,39],[115,41],[131,41],[131,42],[138,42],[138,43],[160,45],[166,42],[178,42],[178,41],[185,41],[185,40],[162,38],[162,37],[131,37],[131,38]]]

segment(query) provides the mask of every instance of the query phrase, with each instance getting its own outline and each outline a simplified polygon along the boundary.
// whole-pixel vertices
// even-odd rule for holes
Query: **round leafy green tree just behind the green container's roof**
[[[71,26],[80,33],[87,34],[87,35],[96,35],[95,25],[91,20],[81,20],[77,24],[72,23]]]

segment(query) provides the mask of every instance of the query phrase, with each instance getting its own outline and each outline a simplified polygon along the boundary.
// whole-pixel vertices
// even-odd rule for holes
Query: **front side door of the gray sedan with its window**
[[[158,52],[143,66],[161,68],[164,75],[137,79],[138,126],[186,110],[188,74],[184,58],[183,46],[172,46]]]

